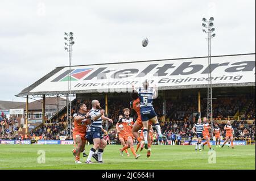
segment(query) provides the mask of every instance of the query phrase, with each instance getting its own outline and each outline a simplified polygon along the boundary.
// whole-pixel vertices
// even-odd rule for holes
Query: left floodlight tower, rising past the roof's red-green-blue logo
[[[69,127],[69,135],[71,136],[71,129],[72,129],[72,90],[71,90],[71,60],[72,60],[72,45],[75,44],[73,41],[73,32],[64,33],[65,37],[65,50],[68,52],[68,92],[67,92],[67,135],[68,135],[68,123],[70,123]]]

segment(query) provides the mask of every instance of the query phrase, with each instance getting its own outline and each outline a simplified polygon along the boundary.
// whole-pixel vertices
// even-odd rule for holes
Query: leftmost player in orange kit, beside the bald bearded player
[[[76,154],[75,163],[80,162],[80,153],[84,150],[85,147],[85,133],[86,133],[86,124],[88,123],[89,113],[86,113],[87,107],[84,103],[80,103],[77,106],[77,111],[74,113],[74,125],[73,129],[73,140],[77,144],[77,148],[72,150],[73,154]]]

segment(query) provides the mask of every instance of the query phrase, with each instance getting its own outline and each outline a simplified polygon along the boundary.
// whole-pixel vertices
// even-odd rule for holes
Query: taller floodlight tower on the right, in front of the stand
[[[210,120],[211,128],[212,128],[212,137],[213,137],[213,115],[212,115],[212,70],[210,69],[210,40],[216,36],[215,33],[212,34],[213,31],[215,31],[215,28],[213,28],[213,17],[210,17],[209,20],[206,18],[202,19],[204,23],[202,23],[203,32],[207,33],[207,41],[208,41],[208,82],[207,82],[207,119]]]

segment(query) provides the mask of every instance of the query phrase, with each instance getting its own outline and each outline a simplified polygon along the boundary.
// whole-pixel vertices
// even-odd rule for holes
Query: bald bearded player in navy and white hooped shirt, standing
[[[92,110],[89,112],[90,119],[92,124],[86,130],[86,140],[93,144],[93,147],[90,149],[90,153],[85,163],[93,163],[90,161],[93,154],[98,149],[98,163],[103,163],[102,154],[103,150],[107,145],[107,142],[102,137],[102,120],[108,120],[110,123],[113,123],[112,119],[104,116],[105,110],[101,109],[101,104],[98,100],[92,100]]]

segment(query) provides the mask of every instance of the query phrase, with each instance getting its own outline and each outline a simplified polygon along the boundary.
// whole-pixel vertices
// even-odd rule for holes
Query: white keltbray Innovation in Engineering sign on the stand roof
[[[121,92],[131,85],[141,87],[145,79],[162,90],[199,87],[209,80],[225,86],[255,83],[255,54],[213,56],[212,62],[210,78],[208,57],[73,66],[72,91]],[[30,92],[67,91],[69,73],[68,67],[61,68]]]

